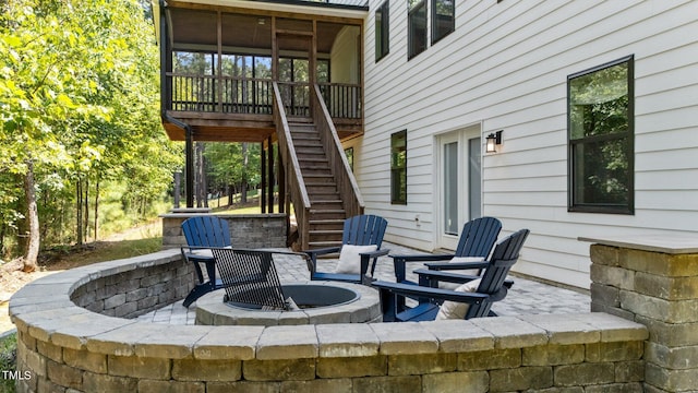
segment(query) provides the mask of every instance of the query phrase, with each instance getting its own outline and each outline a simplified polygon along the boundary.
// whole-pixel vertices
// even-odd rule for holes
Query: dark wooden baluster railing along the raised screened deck
[[[169,110],[272,115],[270,79],[167,73]],[[310,116],[311,90],[303,82],[279,82],[286,114]],[[325,106],[333,118],[360,119],[361,85],[322,83]]]

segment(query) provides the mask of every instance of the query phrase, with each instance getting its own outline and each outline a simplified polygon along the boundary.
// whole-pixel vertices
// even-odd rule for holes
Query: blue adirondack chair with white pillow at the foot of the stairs
[[[371,276],[375,272],[375,264],[381,255],[387,255],[389,250],[382,250],[383,236],[385,235],[385,228],[388,222],[376,215],[358,215],[345,219],[341,246],[330,247],[315,250],[303,251],[309,255],[308,270],[310,271],[311,279],[328,279],[340,281],[347,283],[366,283],[370,278],[366,276],[369,271],[369,263],[373,260],[371,266]],[[326,255],[330,253],[339,253],[340,264],[346,264],[347,261],[342,261],[342,258],[351,258],[351,250],[361,246],[375,246],[373,251],[358,251],[356,264],[357,273],[337,273],[337,272],[320,272],[317,271],[317,257]],[[352,260],[348,261],[353,263]],[[360,266],[360,267],[359,267]]]

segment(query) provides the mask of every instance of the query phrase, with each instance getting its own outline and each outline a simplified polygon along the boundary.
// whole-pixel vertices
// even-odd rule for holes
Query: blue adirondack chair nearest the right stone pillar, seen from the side
[[[416,271],[420,276],[428,276],[432,283],[441,279],[464,283],[479,279],[479,285],[473,287],[474,291],[441,289],[434,287],[434,284],[418,286],[380,281],[372,283],[381,293],[383,322],[431,321],[438,313],[440,305],[446,301],[468,303],[465,319],[495,317],[496,314],[491,310],[492,303],[506,297],[507,286],[504,285],[506,275],[518,260],[528,234],[528,229],[521,229],[509,235],[496,245],[486,263],[476,263],[484,266],[482,276],[468,277],[432,270]],[[416,307],[409,308],[405,306],[405,297],[429,299],[429,301],[421,301]]]

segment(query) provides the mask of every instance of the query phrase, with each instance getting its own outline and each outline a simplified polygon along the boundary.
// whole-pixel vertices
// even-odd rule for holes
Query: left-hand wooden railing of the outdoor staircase
[[[293,146],[291,131],[286,118],[286,110],[281,100],[279,86],[274,82],[274,123],[276,124],[276,134],[279,140],[279,153],[281,160],[287,170],[288,187],[296,212],[296,221],[298,223],[298,235],[300,247],[302,250],[308,249],[310,237],[310,198],[305,189],[305,182],[301,174],[301,167],[298,163],[298,155]]]

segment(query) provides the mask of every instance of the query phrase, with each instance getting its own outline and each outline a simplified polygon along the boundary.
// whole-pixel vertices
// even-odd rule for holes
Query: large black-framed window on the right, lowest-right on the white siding
[[[567,78],[569,211],[634,214],[634,57]]]

